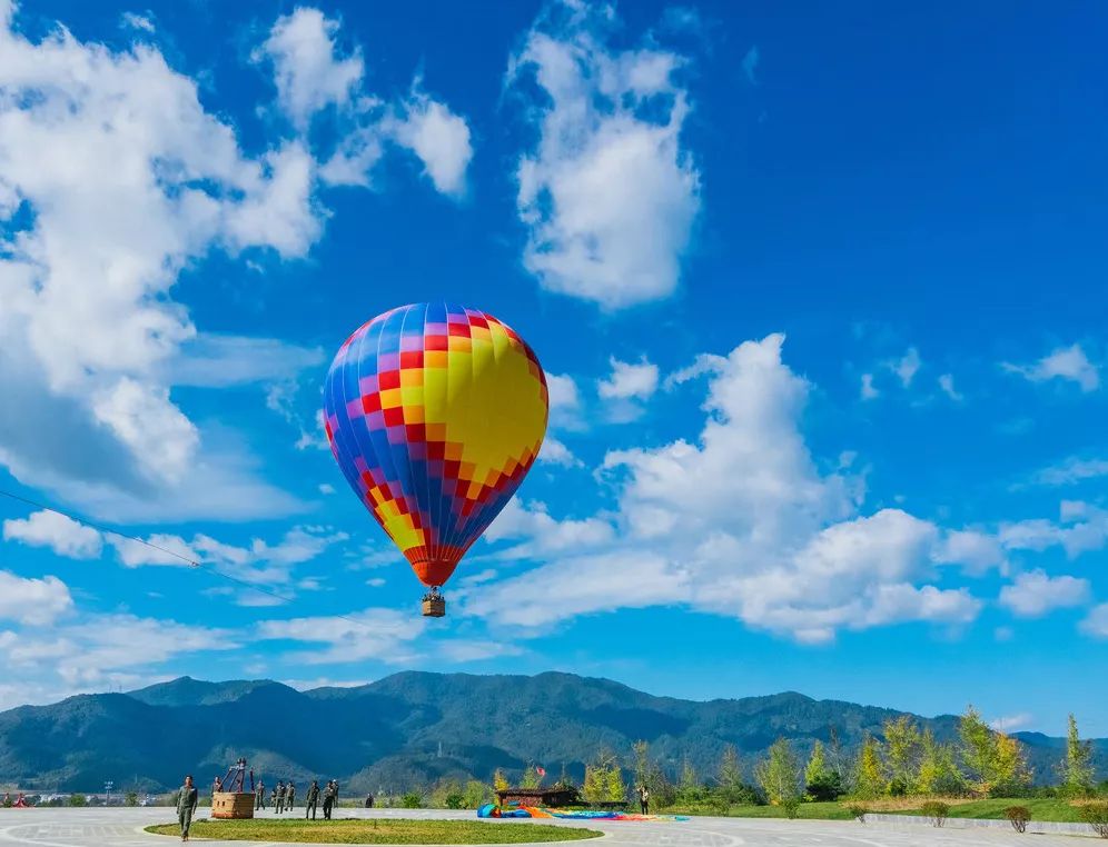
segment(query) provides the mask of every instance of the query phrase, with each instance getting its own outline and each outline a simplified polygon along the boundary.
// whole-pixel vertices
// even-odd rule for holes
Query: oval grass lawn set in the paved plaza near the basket
[[[150,826],[155,835],[180,837],[177,824]],[[228,841],[308,844],[526,844],[575,841],[602,833],[542,824],[478,820],[196,820],[189,835]]]

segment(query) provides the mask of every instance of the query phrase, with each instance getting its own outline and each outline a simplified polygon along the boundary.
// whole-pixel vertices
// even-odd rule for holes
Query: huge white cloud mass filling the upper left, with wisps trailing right
[[[61,27],[36,41],[14,16],[8,4],[0,18],[0,220],[20,221],[0,235],[0,464],[118,519],[303,509],[259,478],[245,445],[194,424],[175,388],[287,379],[319,352],[198,332],[174,286],[217,250],[308,252],[327,217],[325,151],[308,132],[321,112],[338,122],[335,156],[380,134],[386,116],[410,118],[406,138],[446,191],[464,170],[447,156],[459,119],[416,89],[377,103],[338,21],[301,7],[255,54],[296,133],[250,155],[156,47],[113,50]]]

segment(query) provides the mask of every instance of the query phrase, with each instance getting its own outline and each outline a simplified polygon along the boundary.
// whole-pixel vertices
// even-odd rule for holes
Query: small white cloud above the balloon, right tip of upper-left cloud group
[[[465,193],[465,173],[473,158],[473,146],[464,118],[413,86],[408,99],[385,127],[397,145],[419,157],[441,193],[453,197]]]

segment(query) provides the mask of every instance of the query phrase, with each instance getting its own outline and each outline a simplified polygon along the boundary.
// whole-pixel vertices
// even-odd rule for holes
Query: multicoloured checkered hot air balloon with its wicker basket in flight
[[[546,376],[492,315],[416,303],[378,315],[327,373],[327,439],[347,482],[431,588],[438,589],[512,499],[546,434]]]

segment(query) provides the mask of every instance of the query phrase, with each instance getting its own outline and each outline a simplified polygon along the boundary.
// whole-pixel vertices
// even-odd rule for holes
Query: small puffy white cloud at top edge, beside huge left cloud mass
[[[274,67],[277,99],[293,124],[306,131],[311,118],[329,106],[347,106],[362,84],[362,52],[337,54],[339,22],[318,9],[298,7],[274,23],[255,60]]]

